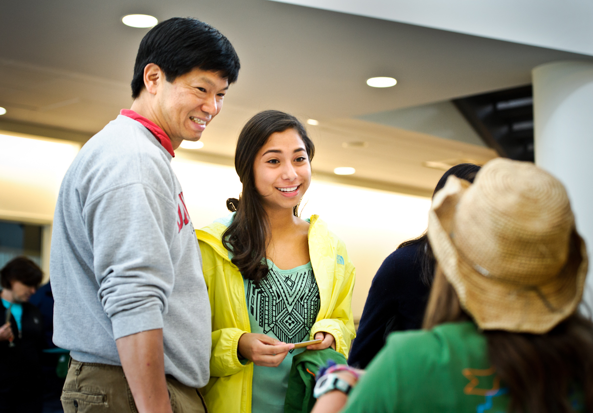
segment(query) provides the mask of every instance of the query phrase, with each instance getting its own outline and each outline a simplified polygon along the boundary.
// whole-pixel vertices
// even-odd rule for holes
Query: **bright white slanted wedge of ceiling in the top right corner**
[[[272,0],[593,55],[588,0]]]

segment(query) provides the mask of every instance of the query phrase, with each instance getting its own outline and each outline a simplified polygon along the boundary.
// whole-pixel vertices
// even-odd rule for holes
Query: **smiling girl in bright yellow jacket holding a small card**
[[[232,214],[196,231],[212,307],[213,413],[283,412],[294,344],[347,357],[355,336],[355,268],[317,215],[298,217],[311,183],[314,145],[294,116],[266,110],[241,131],[243,183]]]

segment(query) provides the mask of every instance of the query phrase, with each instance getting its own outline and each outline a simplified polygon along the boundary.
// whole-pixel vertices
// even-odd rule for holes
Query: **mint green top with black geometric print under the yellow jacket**
[[[268,260],[268,266],[259,287],[244,280],[251,332],[285,343],[307,340],[321,304],[311,262],[279,269]],[[283,413],[292,357],[304,350],[291,350],[278,367],[253,366],[253,413]]]

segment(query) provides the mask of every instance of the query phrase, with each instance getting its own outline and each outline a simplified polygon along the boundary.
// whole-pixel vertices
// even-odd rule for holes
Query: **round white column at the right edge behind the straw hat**
[[[584,300],[593,310],[593,63],[537,66],[533,98],[535,163],[568,190],[576,228],[589,252]]]

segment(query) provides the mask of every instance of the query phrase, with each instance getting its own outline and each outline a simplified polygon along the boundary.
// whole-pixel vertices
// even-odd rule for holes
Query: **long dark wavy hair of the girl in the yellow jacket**
[[[268,272],[265,259],[270,224],[262,205],[262,198],[256,189],[253,165],[257,153],[270,135],[287,129],[294,129],[301,136],[311,161],[315,154],[315,146],[305,127],[296,117],[279,110],[264,110],[253,116],[243,126],[237,140],[235,170],[243,183],[243,192],[239,199],[227,199],[229,211],[237,213],[231,225],[222,234],[222,243],[232,252],[231,262],[237,266],[243,278],[251,279],[256,284],[259,284]],[[293,213],[298,214],[298,205]]]

